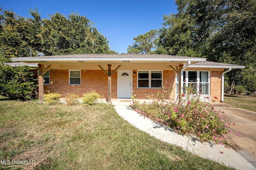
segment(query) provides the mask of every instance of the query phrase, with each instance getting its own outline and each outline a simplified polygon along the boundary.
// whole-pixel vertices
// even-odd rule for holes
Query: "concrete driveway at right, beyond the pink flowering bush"
[[[214,106],[217,110],[222,108],[222,116],[226,116],[225,122],[230,123],[232,133],[228,133],[226,139],[256,167],[256,112],[225,103],[216,103]]]

